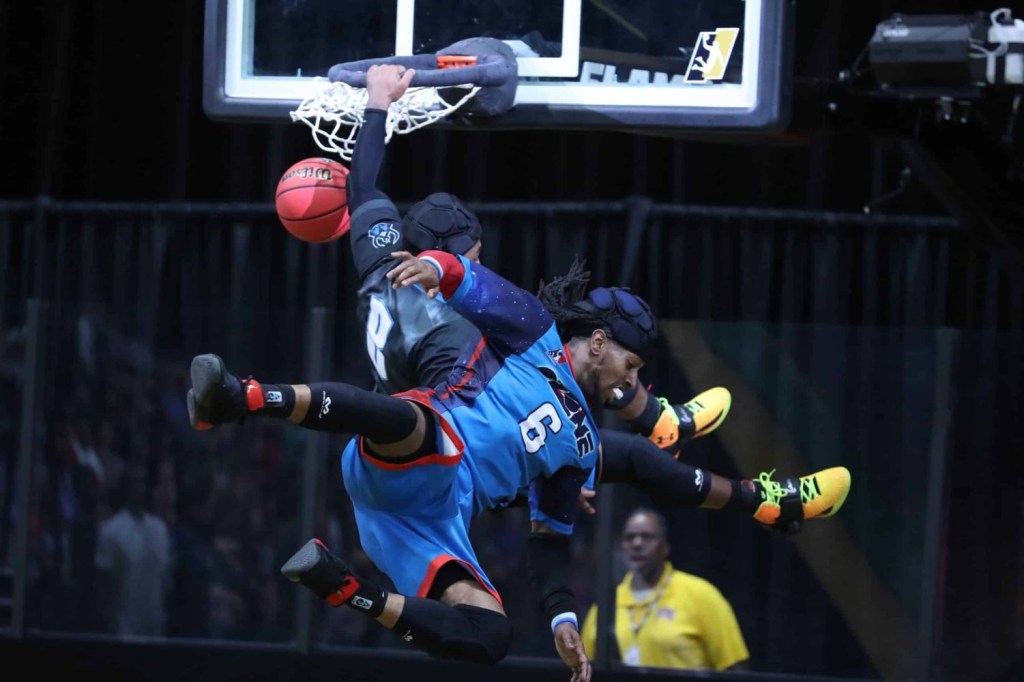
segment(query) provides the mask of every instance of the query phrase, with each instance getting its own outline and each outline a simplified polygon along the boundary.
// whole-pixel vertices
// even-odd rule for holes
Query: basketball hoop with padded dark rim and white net
[[[436,54],[335,65],[326,79],[315,79],[319,91],[291,112],[292,121],[309,126],[318,147],[351,161],[367,105],[367,71],[378,63],[416,70],[409,89],[388,109],[385,142],[395,133],[411,133],[458,110],[468,118],[494,117],[515,101],[518,67],[512,48],[494,38],[469,38]]]

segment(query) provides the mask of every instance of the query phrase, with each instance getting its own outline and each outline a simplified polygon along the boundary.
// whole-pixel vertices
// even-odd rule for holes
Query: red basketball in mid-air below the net
[[[303,159],[278,181],[281,224],[303,242],[333,242],[348,231],[348,168],[332,159]]]

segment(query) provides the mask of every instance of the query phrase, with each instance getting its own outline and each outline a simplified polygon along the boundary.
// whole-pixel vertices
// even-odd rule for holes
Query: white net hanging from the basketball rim
[[[347,83],[331,83],[327,79],[321,91],[304,99],[291,112],[292,121],[302,122],[312,130],[313,141],[325,152],[352,160],[355,135],[362,125],[362,111],[367,106],[367,89]],[[454,85],[465,90],[455,103],[441,99],[435,87],[409,88],[398,101],[388,109],[385,142],[394,133],[399,135],[430,125],[452,114],[469,101],[480,89],[477,85]]]

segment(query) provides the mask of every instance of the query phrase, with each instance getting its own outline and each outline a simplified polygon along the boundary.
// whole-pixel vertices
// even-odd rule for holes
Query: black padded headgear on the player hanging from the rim
[[[482,235],[480,221],[454,195],[437,191],[409,210],[401,230],[419,251],[440,249],[462,255],[473,248]]]

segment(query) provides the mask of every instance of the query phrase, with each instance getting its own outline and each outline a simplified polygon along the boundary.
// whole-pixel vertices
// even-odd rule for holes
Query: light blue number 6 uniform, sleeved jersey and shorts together
[[[528,492],[531,520],[571,534],[597,462],[597,425],[536,296],[464,258],[421,257],[438,265],[444,300],[482,338],[447,382],[398,394],[437,415],[437,454],[394,463],[356,438],[342,454],[345,487],[364,550],[399,592],[425,596],[450,559],[495,592],[469,544],[470,519]]]

